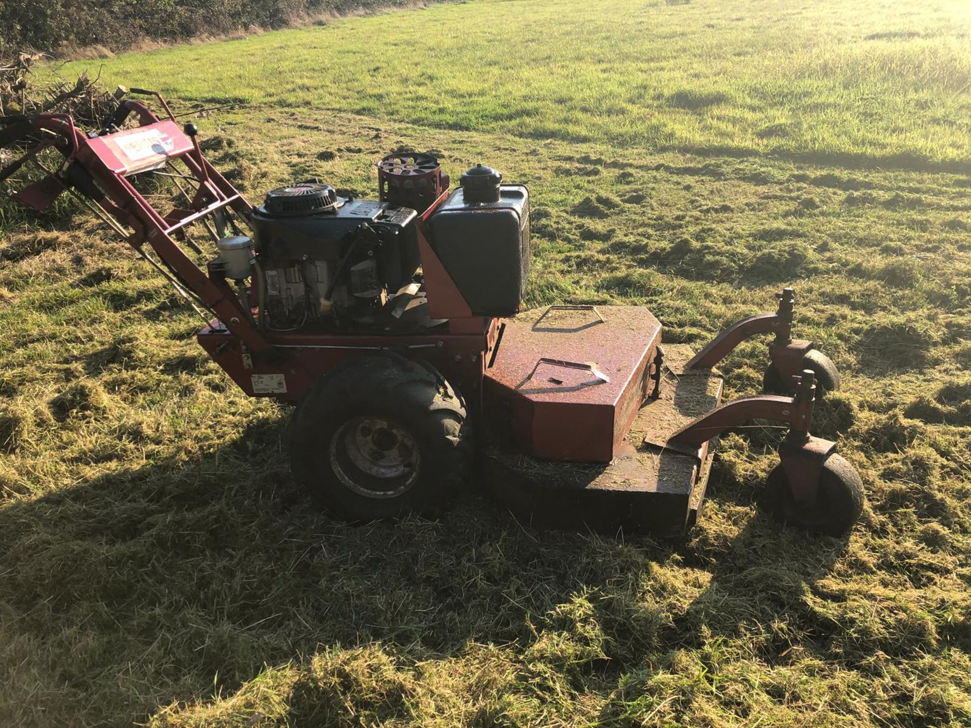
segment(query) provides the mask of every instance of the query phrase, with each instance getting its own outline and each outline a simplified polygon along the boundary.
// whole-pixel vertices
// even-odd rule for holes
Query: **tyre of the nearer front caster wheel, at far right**
[[[782,463],[769,473],[760,506],[778,521],[826,536],[843,536],[863,511],[863,482],[856,469],[837,453],[822,463],[816,501],[796,503]]]

